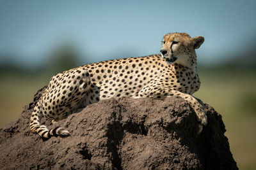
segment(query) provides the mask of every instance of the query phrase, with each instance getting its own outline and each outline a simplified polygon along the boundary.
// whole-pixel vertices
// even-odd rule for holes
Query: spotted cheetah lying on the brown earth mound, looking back
[[[106,60],[76,67],[53,76],[30,118],[30,129],[43,139],[66,137],[63,127],[40,125],[44,116],[56,122],[88,104],[111,97],[180,96],[196,113],[199,131],[207,124],[204,106],[192,96],[200,87],[196,73],[196,52],[204,37],[186,33],[164,35],[161,54]]]

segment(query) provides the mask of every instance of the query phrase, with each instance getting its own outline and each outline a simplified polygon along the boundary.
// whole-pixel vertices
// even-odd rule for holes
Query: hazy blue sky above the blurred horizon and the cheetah
[[[37,66],[67,41],[84,63],[145,56],[159,53],[168,32],[204,36],[198,62],[221,62],[256,39],[255,7],[256,1],[0,1],[0,62]]]

